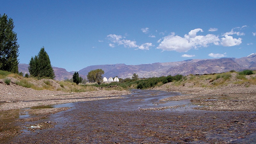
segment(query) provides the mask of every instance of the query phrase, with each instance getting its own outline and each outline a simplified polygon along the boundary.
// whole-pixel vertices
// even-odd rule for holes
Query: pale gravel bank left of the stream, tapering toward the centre
[[[37,91],[14,84],[0,84],[0,111],[78,101],[116,99],[119,98],[120,95],[128,93],[130,92],[117,90],[78,93],[49,90]]]

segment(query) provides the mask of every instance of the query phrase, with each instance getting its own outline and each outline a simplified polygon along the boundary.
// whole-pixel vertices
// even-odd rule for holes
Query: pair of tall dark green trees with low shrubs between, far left
[[[17,34],[13,31],[14,24],[12,18],[4,13],[0,14],[0,69],[12,73],[19,73],[19,47],[17,43]],[[29,62],[28,71],[31,76],[48,77],[54,79],[55,74],[52,69],[51,61],[44,46],[38,55],[32,57]],[[23,76],[21,72],[20,75]],[[28,74],[25,75],[28,77]]]

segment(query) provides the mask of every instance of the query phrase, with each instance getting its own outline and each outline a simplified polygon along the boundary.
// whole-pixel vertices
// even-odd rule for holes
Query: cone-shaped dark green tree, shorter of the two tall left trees
[[[50,77],[54,79],[55,74],[52,69],[50,58],[44,50],[44,46],[41,48],[40,52],[34,58],[31,57],[29,62],[28,71],[31,76],[39,77]]]

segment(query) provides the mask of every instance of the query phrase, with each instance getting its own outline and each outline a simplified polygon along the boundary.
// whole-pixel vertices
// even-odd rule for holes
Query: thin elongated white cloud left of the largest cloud
[[[145,43],[139,46],[136,44],[136,41],[127,40],[127,39],[124,39],[125,37],[120,35],[115,35],[115,34],[110,34],[107,37],[112,43],[116,43],[118,45],[124,45],[124,47],[129,47],[129,48],[137,47],[138,49],[141,49],[141,50],[149,50],[149,47],[153,46],[152,43]],[[109,44],[109,46],[115,47],[114,44]]]

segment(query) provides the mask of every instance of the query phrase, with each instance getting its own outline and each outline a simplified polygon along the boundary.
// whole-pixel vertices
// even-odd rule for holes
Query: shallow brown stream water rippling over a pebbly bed
[[[54,128],[22,133],[5,143],[256,143],[255,112],[193,110],[189,100],[162,103],[180,93],[132,90],[123,99],[56,105],[72,107],[37,124],[51,121]],[[186,105],[164,111],[142,111]]]

